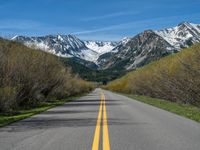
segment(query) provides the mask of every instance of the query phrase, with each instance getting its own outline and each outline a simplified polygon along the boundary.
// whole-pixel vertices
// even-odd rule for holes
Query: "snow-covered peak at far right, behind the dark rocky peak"
[[[176,49],[188,47],[189,43],[200,42],[200,25],[183,22],[176,27],[154,31]]]

